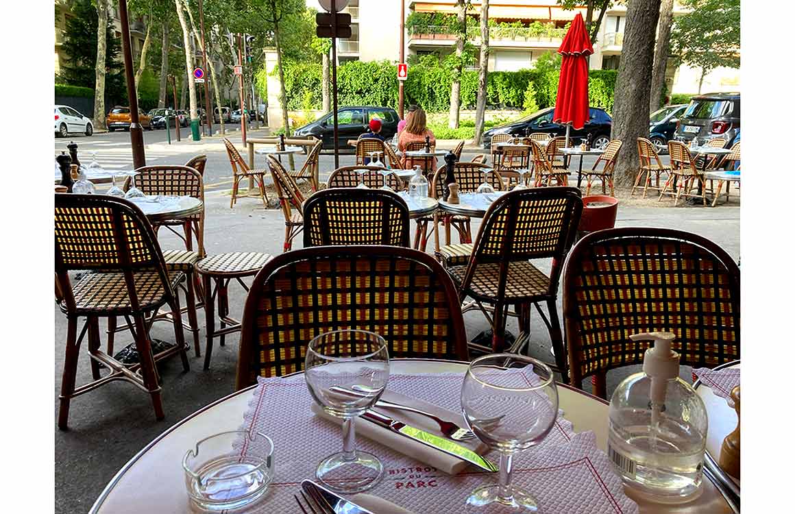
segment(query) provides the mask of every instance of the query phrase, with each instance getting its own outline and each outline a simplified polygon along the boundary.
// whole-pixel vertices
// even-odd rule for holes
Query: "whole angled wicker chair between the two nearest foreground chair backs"
[[[557,284],[582,211],[583,201],[576,187],[510,191],[491,204],[469,263],[448,268],[461,300],[471,297],[493,330],[491,348],[471,345],[472,348],[490,353],[506,350],[508,307],[521,309],[519,329],[529,333],[530,307],[535,305],[549,330],[556,367],[565,373],[563,335],[556,307]],[[531,264],[530,259],[551,259],[549,276]],[[493,306],[493,316],[483,303]],[[541,311],[540,303],[546,303],[549,319]]]

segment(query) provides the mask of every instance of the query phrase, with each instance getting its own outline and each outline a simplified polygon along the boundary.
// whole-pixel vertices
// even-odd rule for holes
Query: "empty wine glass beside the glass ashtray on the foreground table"
[[[370,489],[384,468],[375,455],[356,450],[354,422],[378,401],[389,381],[386,341],[365,330],[320,334],[309,342],[304,369],[312,398],[325,412],[343,419],[343,450],[324,458],[315,476],[339,493]],[[356,394],[343,394],[339,388]]]

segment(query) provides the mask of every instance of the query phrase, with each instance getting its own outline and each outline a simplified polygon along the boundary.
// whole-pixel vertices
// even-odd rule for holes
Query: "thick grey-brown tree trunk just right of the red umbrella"
[[[614,139],[623,141],[615,164],[617,184],[632,185],[638,172],[638,137],[649,137],[649,83],[654,30],[661,0],[632,0],[626,9],[624,44],[615,80]]]

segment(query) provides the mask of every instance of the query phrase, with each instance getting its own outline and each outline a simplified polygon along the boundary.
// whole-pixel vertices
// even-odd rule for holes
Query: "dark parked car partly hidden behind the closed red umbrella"
[[[531,133],[544,132],[552,134],[553,137],[565,136],[566,126],[552,121],[554,112],[554,107],[547,107],[515,122],[488,129],[483,133],[483,146],[491,149],[491,137],[498,133],[506,133],[511,136],[529,136]],[[596,148],[602,148],[610,142],[612,125],[613,120],[610,114],[607,114],[603,109],[591,107],[590,118],[588,122],[585,122],[585,126],[582,129],[574,129],[572,127],[569,131],[569,136],[574,138],[576,142],[579,142],[584,137],[590,137],[591,145]]]

